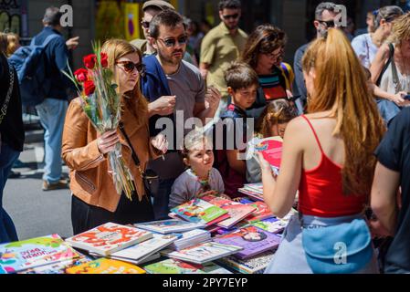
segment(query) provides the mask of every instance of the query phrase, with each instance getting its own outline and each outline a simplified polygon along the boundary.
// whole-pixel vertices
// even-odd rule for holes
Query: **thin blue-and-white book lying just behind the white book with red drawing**
[[[205,228],[206,224],[197,224],[192,222],[186,222],[179,219],[168,219],[161,221],[152,221],[146,223],[134,224],[135,227],[157,232],[163,235],[190,231],[197,228]]]

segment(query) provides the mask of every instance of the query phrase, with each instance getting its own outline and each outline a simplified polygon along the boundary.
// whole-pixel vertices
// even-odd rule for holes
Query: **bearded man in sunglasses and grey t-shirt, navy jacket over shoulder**
[[[184,162],[177,152],[184,137],[177,133],[184,130],[187,119],[199,118],[203,125],[212,120],[221,95],[216,89],[206,91],[199,69],[183,60],[188,36],[181,15],[174,10],[163,10],[152,18],[149,33],[156,54],[142,59],[146,66],[142,94],[150,102],[150,133],[152,136],[162,130],[168,133],[170,129],[167,127],[173,127],[173,137],[167,137],[169,151],[148,165],[160,177],[159,192],[153,195],[152,202],[155,220],[160,220],[168,217],[171,187],[184,172]],[[182,113],[183,119],[180,118]],[[167,119],[159,120],[164,117]],[[158,126],[162,128],[158,129]],[[188,131],[182,133],[187,134]]]

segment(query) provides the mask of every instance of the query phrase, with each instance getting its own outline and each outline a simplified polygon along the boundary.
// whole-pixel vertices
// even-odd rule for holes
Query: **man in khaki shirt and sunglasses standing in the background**
[[[224,72],[231,62],[236,61],[247,43],[247,34],[239,28],[241,3],[239,0],[219,2],[219,26],[211,29],[201,44],[199,68],[207,86],[215,86],[222,93],[216,118],[226,111],[228,93]]]

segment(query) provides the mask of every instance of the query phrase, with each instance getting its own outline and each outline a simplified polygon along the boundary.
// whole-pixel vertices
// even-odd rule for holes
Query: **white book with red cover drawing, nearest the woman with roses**
[[[94,252],[99,255],[110,255],[152,238],[152,233],[135,227],[106,223],[66,239],[68,244]]]

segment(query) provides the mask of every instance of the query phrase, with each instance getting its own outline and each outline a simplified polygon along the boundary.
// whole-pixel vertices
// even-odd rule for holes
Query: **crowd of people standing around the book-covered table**
[[[354,268],[337,273],[409,273],[410,13],[380,7],[355,31],[352,19],[340,26],[338,5],[323,2],[311,22],[315,39],[288,64],[285,31],[264,24],[247,35],[239,27],[239,0],[221,0],[218,11],[221,22],[212,28],[168,2],[146,1],[144,39],[104,42],[124,110],[123,128],[99,135],[79,99],[68,103],[71,85],[61,73],[79,37],[66,41],[61,13],[47,8],[44,29],[32,42],[46,46],[52,84],[36,105],[45,130],[42,188],[69,187],[74,234],[106,222],[166,219],[171,208],[195,197],[236,199],[245,183],[263,183],[265,203],[278,217],[289,214],[299,192],[299,214],[266,273],[320,273],[310,255],[326,251],[307,244],[315,232],[323,241],[326,232],[340,234],[358,251],[358,257],[347,254]],[[19,47],[18,36],[0,34],[0,203],[24,143],[17,72],[7,63]],[[171,120],[171,136],[163,118]],[[201,125],[185,129],[193,118]],[[209,138],[218,129],[222,147]],[[234,143],[226,141],[228,133]],[[279,174],[262,155],[257,160],[247,153],[247,143],[274,136],[283,140]],[[136,180],[132,201],[118,196],[109,179],[106,154],[117,142]],[[69,178],[62,176],[61,157]],[[159,177],[155,193],[143,185],[147,170]],[[0,206],[0,242],[16,241]],[[362,245],[352,236],[363,238]],[[373,242],[364,244],[366,236]]]

